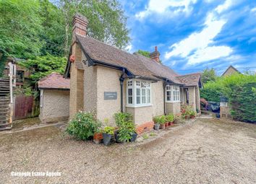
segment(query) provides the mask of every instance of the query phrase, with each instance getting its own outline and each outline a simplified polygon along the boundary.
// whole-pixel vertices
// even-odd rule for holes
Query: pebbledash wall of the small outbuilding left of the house
[[[39,118],[43,123],[67,120],[69,91],[43,89]]]

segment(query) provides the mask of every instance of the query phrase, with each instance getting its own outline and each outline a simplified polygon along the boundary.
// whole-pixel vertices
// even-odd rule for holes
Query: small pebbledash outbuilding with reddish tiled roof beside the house
[[[52,73],[40,79],[40,121],[49,123],[69,118],[69,79]]]

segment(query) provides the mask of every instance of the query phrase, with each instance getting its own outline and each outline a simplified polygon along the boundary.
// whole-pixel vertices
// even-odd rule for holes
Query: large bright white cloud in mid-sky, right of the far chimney
[[[171,45],[171,51],[167,52],[165,58],[179,56],[187,58],[188,64],[202,63],[216,58],[226,57],[232,52],[228,46],[214,46],[213,39],[221,32],[226,20],[216,19],[210,13],[205,20],[205,28],[201,32],[194,32],[189,37]]]

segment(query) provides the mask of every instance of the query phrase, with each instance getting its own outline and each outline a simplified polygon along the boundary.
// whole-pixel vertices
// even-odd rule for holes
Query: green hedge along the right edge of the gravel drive
[[[228,97],[231,115],[237,121],[256,123],[256,75],[233,74],[220,77],[216,82],[204,84],[200,96],[208,101],[220,102]]]

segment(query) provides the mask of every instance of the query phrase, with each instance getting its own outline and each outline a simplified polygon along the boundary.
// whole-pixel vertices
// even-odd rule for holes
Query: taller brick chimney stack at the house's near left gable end
[[[87,25],[88,25],[88,19],[81,15],[81,14],[74,14],[73,21],[72,21],[72,35],[87,35]]]

